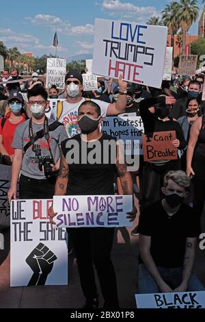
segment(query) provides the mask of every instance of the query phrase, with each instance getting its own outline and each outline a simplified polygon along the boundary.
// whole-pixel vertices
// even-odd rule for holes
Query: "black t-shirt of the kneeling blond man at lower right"
[[[193,209],[185,203],[169,218],[161,201],[156,201],[139,217],[139,234],[151,236],[150,253],[156,266],[182,267],[186,239],[199,236],[200,227]]]

